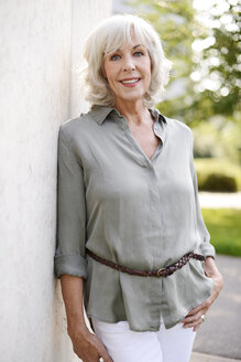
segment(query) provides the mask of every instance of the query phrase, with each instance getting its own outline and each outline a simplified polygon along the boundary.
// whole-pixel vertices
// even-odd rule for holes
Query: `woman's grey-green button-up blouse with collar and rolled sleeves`
[[[160,143],[150,160],[116,109],[95,106],[65,121],[58,135],[55,273],[84,278],[89,318],[128,320],[156,331],[174,327],[206,300],[213,281],[190,259],[168,277],[114,270],[86,255],[130,268],[168,266],[194,251],[215,257],[205,226],[188,126],[150,109]]]

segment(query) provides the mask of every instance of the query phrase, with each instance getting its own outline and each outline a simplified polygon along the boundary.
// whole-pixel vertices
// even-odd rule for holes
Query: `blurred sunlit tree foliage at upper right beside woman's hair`
[[[211,0],[206,8],[204,1],[195,0],[129,3],[152,22],[174,64],[172,92],[158,105],[160,110],[191,126],[213,115],[229,116],[231,121],[240,119],[238,1]]]

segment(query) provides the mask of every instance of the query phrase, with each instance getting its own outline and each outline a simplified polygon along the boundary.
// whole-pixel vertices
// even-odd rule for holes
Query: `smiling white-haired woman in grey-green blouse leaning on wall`
[[[91,109],[58,138],[55,270],[74,351],[84,362],[187,362],[222,277],[191,131],[153,108],[171,63],[133,15],[103,21],[84,55]]]

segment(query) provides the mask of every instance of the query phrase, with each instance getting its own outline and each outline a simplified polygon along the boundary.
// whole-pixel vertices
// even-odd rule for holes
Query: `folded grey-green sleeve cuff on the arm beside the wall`
[[[57,278],[63,274],[87,278],[87,260],[80,255],[57,255],[54,257],[54,269]]]

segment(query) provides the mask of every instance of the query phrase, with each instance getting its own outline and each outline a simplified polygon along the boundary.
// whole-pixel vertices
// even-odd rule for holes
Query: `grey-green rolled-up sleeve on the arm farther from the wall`
[[[200,245],[199,251],[200,254],[205,257],[211,256],[215,258],[216,251],[215,247],[210,244],[210,234],[205,225],[200,203],[199,203],[199,196],[198,196],[198,181],[197,181],[197,172],[194,164],[194,138],[191,134],[191,151],[190,151],[190,170],[191,170],[191,177],[193,177],[193,184],[194,184],[194,193],[195,193],[195,204],[196,204],[196,216],[197,216],[197,231],[200,236]]]

